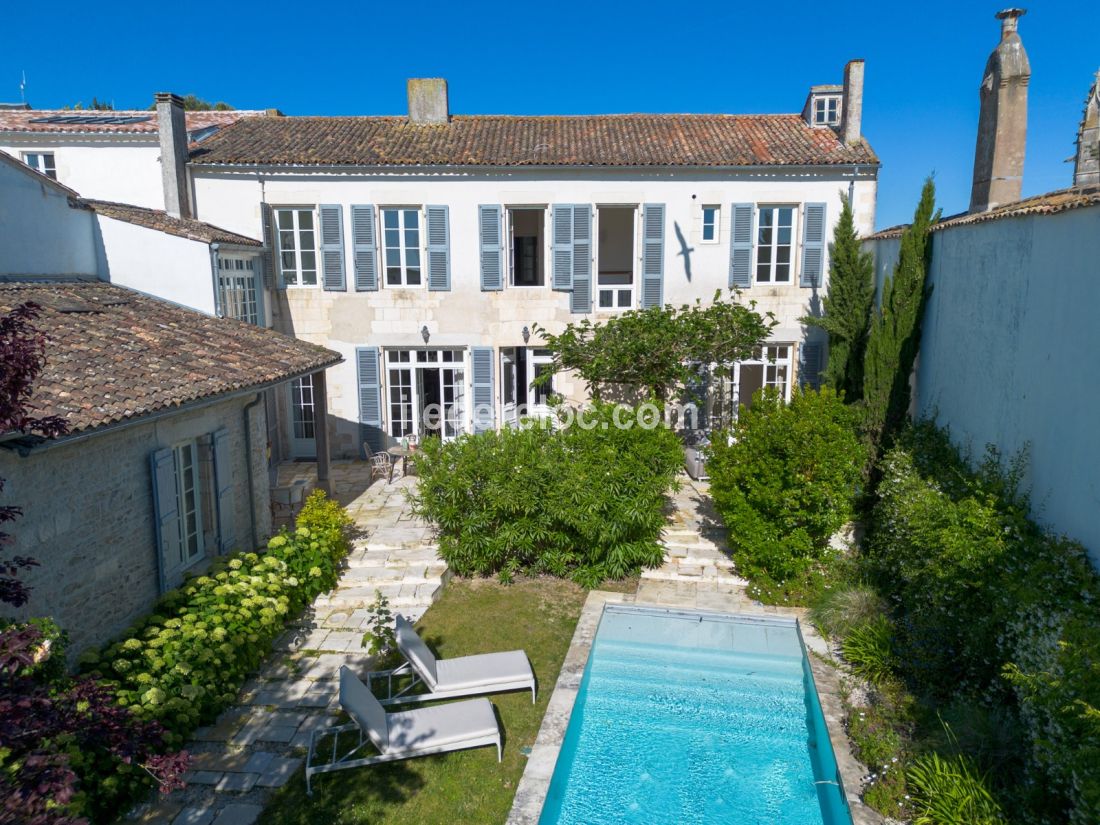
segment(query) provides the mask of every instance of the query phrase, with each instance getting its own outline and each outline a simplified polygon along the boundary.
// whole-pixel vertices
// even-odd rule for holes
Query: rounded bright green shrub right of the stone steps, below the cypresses
[[[851,519],[867,458],[858,413],[831,389],[768,393],[712,439],[711,495],[738,571],[765,587],[799,582],[828,559],[828,540]]]

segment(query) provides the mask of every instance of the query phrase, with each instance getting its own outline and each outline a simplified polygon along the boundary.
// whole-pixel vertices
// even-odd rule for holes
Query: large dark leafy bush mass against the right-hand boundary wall
[[[1019,461],[971,470],[931,424],[881,470],[865,562],[900,671],[928,701],[1019,716],[1022,781],[997,778],[1013,816],[1100,822],[1100,575],[1084,548],[1028,518]]]

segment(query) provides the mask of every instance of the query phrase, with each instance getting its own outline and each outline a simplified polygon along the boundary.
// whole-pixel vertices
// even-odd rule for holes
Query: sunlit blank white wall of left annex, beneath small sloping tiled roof
[[[105,216],[98,219],[103,279],[215,314],[209,244]]]

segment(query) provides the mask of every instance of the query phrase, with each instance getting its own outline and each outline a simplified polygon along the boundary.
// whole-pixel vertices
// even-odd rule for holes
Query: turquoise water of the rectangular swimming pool
[[[793,620],[609,605],[540,825],[850,825]]]

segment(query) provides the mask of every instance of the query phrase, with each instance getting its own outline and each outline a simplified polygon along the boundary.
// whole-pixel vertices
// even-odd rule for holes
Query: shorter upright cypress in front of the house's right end
[[[829,244],[828,292],[821,316],[803,323],[828,333],[828,363],[822,378],[851,404],[864,397],[864,353],[875,301],[875,260],[856,234],[851,205],[844,198]]]

